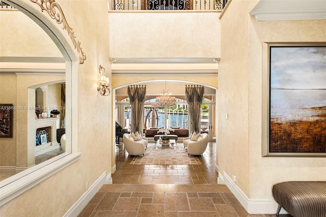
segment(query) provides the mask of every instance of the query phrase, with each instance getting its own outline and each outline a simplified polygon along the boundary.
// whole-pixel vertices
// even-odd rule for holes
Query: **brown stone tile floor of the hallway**
[[[276,216],[247,213],[226,185],[216,184],[215,146],[199,157],[202,165],[129,165],[133,157],[116,146],[113,184],[103,185],[78,216]]]

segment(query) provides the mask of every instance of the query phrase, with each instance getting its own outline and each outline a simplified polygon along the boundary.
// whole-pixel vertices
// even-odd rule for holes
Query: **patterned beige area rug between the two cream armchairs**
[[[172,147],[158,147],[154,144],[148,145],[145,156],[135,156],[130,165],[201,165],[196,156],[189,155],[183,148],[183,144],[177,144],[176,149]]]

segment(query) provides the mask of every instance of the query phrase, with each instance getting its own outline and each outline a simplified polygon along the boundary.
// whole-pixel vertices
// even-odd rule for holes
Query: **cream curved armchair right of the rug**
[[[202,133],[197,141],[190,140],[189,137],[183,138],[183,146],[187,148],[188,155],[201,155],[205,152],[208,144],[208,134]]]

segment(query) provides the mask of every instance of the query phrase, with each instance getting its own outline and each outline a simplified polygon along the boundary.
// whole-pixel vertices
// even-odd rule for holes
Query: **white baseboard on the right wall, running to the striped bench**
[[[223,171],[223,175],[219,173],[218,184],[226,184],[243,208],[250,214],[275,214],[277,211],[278,203],[275,200],[249,199],[225,171]],[[280,214],[288,214],[288,212],[281,209]]]

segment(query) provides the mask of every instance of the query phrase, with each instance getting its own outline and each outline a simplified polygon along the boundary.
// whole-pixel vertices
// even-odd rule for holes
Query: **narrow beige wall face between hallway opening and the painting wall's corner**
[[[248,10],[249,1],[232,1],[221,19],[219,64],[219,172],[238,177],[239,188],[249,195],[248,144]],[[247,12],[247,13],[246,13]],[[228,119],[226,119],[228,115]]]

